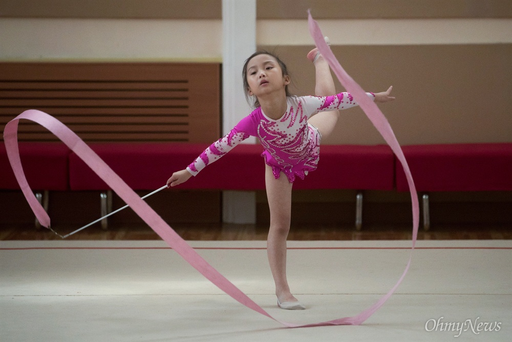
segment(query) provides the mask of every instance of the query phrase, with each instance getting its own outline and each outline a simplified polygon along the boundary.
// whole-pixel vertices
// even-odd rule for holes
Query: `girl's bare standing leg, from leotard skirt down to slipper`
[[[275,295],[280,303],[295,302],[286,280],[286,239],[290,231],[292,183],[281,173],[275,179],[272,168],[266,165],[265,182],[268,206],[270,208],[270,228],[267,238],[267,254],[270,270],[275,283]]]

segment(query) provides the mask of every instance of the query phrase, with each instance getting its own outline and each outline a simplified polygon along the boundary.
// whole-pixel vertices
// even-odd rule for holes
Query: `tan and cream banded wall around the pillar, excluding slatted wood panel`
[[[0,61],[221,62],[221,4],[2,0]],[[394,86],[381,108],[400,143],[512,142],[509,0],[258,0],[258,45],[287,62],[296,94],[314,89],[308,8],[363,88]],[[324,143],[383,140],[351,109]]]

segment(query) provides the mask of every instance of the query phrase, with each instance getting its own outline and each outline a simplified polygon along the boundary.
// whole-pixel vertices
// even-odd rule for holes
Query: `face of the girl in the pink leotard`
[[[274,57],[261,54],[252,57],[247,63],[247,83],[249,95],[259,97],[276,90],[285,91],[285,87],[290,83],[290,77],[283,75]]]

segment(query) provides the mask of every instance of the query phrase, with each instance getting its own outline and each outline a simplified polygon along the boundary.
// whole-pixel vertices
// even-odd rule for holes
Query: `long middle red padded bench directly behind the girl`
[[[96,143],[91,148],[133,189],[156,189],[173,172],[194,161],[207,144]],[[261,145],[241,144],[182,189],[263,190],[265,166]],[[70,155],[71,190],[103,190],[102,216],[111,208],[108,186],[77,155]],[[317,170],[294,184],[297,189],[393,190],[394,158],[386,145],[326,145]],[[362,223],[362,193],[356,197],[356,227]],[[106,227],[106,221],[103,221]]]

